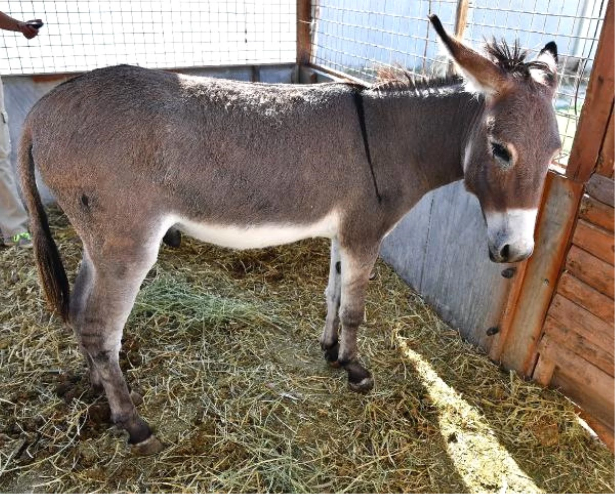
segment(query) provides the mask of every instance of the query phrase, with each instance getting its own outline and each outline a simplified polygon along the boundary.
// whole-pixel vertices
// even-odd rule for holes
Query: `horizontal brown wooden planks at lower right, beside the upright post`
[[[600,175],[595,175],[600,177]],[[593,178],[592,178],[593,180]],[[590,183],[592,182],[590,180]],[[610,182],[611,178],[600,180]],[[615,438],[615,193],[585,194],[533,377],[560,388]],[[615,442],[611,443],[615,447]]]

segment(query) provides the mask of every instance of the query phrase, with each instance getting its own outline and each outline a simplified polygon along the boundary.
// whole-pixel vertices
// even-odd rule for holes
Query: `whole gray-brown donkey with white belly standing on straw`
[[[356,343],[371,268],[421,196],[463,178],[491,259],[531,254],[560,148],[557,48],[526,62],[516,45],[493,42],[482,55],[431,22],[464,79],[292,86],[115,66],[65,82],[31,110],[18,175],[42,286],[137,453],[162,445],[133,405],[118,353],[170,228],[235,249],[330,238],[320,344],[360,392],[373,386]],[[35,164],[83,242],[72,297]]]

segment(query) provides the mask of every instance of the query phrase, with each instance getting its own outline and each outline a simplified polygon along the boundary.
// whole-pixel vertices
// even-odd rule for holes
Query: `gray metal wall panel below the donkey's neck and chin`
[[[477,199],[461,181],[427,194],[384,240],[383,259],[464,338],[488,349],[512,279],[489,260]]]

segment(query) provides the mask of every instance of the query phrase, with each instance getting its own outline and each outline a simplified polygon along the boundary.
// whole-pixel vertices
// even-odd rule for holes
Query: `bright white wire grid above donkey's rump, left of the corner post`
[[[293,63],[293,0],[7,1],[18,20],[42,18],[30,41],[0,31],[1,74],[84,71],[117,63],[151,68]]]

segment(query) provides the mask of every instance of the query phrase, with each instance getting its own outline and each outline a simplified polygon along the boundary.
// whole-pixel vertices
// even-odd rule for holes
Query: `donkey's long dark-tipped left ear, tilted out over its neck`
[[[479,54],[461,41],[449,36],[437,15],[430,15],[429,20],[434,25],[446,50],[461,69],[461,73],[479,92],[491,96],[504,92],[510,81],[506,73],[495,63]]]

